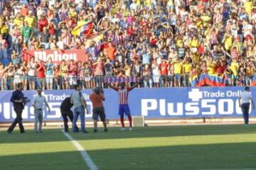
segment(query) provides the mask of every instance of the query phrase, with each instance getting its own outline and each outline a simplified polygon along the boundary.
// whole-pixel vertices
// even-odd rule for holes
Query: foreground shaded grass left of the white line
[[[3,170],[81,170],[88,169],[80,152],[53,152],[1,156]]]

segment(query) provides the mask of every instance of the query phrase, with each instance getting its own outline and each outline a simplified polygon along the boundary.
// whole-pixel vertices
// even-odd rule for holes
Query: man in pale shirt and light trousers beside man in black
[[[47,106],[50,113],[50,107],[46,101],[46,97],[42,95],[42,89],[38,88],[38,95],[33,98],[32,106],[34,108],[35,114],[35,132],[42,132],[42,123],[43,123],[43,103]],[[38,128],[39,123],[39,128]]]

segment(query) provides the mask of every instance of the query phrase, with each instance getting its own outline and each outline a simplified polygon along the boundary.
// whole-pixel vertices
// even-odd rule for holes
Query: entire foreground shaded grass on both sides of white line
[[[106,144],[107,145],[107,144]],[[256,143],[184,145],[89,151],[99,169],[256,169]],[[1,169],[87,169],[78,152],[0,157]]]

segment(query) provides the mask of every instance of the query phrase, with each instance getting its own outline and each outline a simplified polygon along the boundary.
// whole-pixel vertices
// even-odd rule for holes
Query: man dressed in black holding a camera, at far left
[[[22,117],[21,117],[24,104],[25,104],[22,90],[23,90],[23,84],[19,83],[16,91],[14,91],[11,96],[11,102],[14,103],[14,111],[17,116],[14,122],[11,124],[10,128],[7,130],[8,133],[11,133],[14,130],[17,123],[21,133],[25,132],[22,124]]]

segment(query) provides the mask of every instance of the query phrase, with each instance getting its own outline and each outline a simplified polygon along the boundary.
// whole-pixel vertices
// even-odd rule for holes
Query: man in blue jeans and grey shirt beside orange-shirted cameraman
[[[73,132],[77,132],[76,130],[76,123],[78,121],[78,116],[80,115],[81,119],[81,130],[83,133],[87,133],[85,130],[85,110],[88,113],[87,110],[87,104],[85,101],[85,98],[83,98],[82,93],[80,92],[82,90],[82,86],[75,85],[74,86],[75,91],[73,94],[71,94],[71,103],[74,107],[74,119],[73,119]]]

